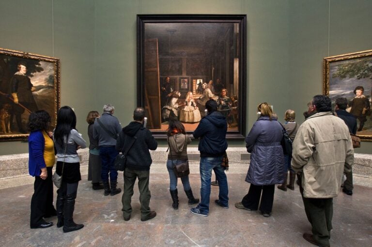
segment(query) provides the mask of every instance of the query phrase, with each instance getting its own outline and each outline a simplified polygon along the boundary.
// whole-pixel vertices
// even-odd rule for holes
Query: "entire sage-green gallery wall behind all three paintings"
[[[87,112],[104,104],[116,107],[123,126],[132,119],[137,14],[246,14],[249,131],[263,101],[279,120],[294,108],[302,122],[306,103],[322,93],[322,59],[372,48],[371,9],[370,0],[2,0],[0,47],[61,59],[61,103],[75,108],[87,137]],[[26,152],[27,143],[0,143],[0,155]]]

